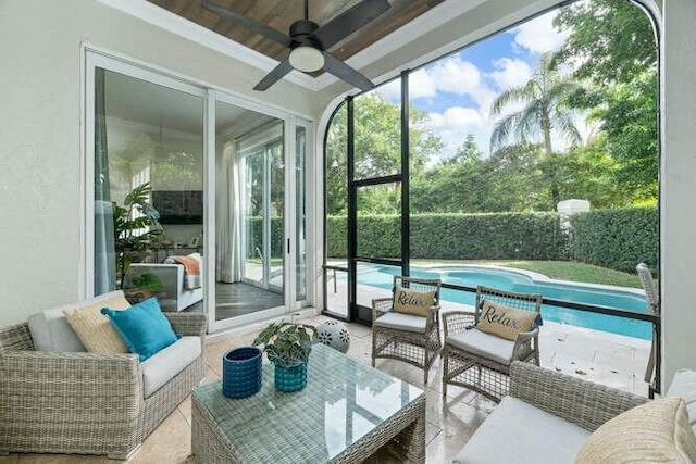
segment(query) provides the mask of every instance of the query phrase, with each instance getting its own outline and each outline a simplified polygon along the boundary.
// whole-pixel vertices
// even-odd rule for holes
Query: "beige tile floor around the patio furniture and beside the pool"
[[[309,321],[320,324],[326,316],[314,316]],[[369,327],[349,324],[351,341],[348,354],[370,364],[371,337]],[[229,348],[249,344],[256,333],[236,337],[216,337],[206,346],[206,377],[221,376],[222,354]],[[627,337],[613,336],[595,330],[581,329],[554,323],[545,323],[540,337],[542,364],[616,388],[647,394],[643,383],[643,369],[647,363],[649,343]],[[422,386],[422,372],[410,364],[378,360],[377,367],[395,377]],[[439,361],[431,371],[426,388],[426,462],[451,462],[457,451],[469,440],[495,403],[477,393],[457,387],[448,388],[443,400]],[[186,399],[145,440],[130,463],[194,463],[190,453],[190,398]],[[0,464],[62,464],[119,463],[100,456],[11,454],[0,456]],[[371,462],[385,462],[384,459]]]

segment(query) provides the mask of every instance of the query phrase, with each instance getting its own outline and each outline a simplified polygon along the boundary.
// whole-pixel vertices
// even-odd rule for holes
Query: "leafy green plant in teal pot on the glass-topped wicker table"
[[[269,324],[253,340],[275,366],[275,388],[297,391],[307,385],[307,361],[316,340],[316,328],[286,321]]]

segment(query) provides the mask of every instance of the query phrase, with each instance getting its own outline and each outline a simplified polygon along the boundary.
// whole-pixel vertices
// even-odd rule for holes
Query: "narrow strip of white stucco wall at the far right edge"
[[[696,368],[696,1],[666,0],[662,30],[661,298],[663,379]]]

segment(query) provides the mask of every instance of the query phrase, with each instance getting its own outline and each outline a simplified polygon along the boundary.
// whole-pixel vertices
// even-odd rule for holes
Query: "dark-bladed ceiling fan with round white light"
[[[309,20],[309,0],[304,0],[304,18],[290,25],[289,35],[213,3],[212,0],[203,0],[203,7],[290,49],[289,55],[261,79],[253,87],[254,90],[268,89],[293,70],[304,73],[324,70],[359,89],[374,88],[370,79],[326,50],[387,11],[388,0],[363,0],[323,26]]]

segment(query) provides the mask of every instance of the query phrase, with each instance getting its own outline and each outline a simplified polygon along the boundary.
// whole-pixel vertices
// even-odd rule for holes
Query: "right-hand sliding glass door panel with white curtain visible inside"
[[[214,104],[214,324],[224,327],[282,315],[307,299],[307,129],[295,130],[294,124],[225,96]],[[288,131],[296,133],[291,139]]]

